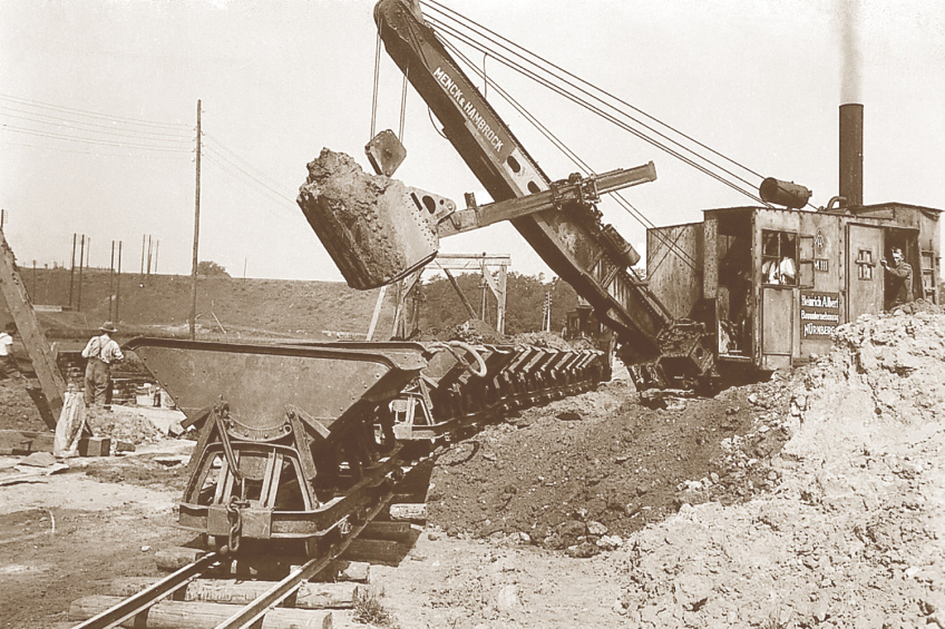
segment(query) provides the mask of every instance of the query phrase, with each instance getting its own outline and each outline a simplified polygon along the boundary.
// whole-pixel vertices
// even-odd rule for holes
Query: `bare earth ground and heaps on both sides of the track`
[[[28,427],[7,389],[3,427]],[[863,317],[714,399],[610,383],[441,455],[426,532],[376,567],[381,600],[403,629],[945,627],[943,417],[938,313]],[[0,626],[62,626],[182,541],[183,464],[148,448],[0,485]]]

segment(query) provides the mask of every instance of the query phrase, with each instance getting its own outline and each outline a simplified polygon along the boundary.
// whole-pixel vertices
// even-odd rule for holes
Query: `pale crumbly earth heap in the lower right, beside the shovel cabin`
[[[945,627],[945,316],[861,317],[796,374],[772,493],[617,553],[642,627]]]

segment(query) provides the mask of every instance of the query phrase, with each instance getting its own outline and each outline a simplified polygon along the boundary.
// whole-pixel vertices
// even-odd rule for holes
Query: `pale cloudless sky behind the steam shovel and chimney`
[[[807,186],[816,206],[837,194],[837,107],[858,100],[865,203],[945,208],[941,0],[442,3],[753,173]],[[158,273],[189,273],[199,99],[199,258],[234,276],[340,281],[294,198],[322,147],[369,169],[372,10],[362,0],[4,0],[0,207],[20,263],[68,265],[72,234],[85,234],[91,266],[107,267],[121,240],[123,268],[134,272],[149,235]],[[654,161],[657,180],[624,194],[650,223],[752,203],[462,50],[595,170]],[[383,53],[379,71],[377,129],[397,131],[402,76]],[[495,89],[489,100],[552,178],[577,170]],[[408,157],[396,177],[460,206],[466,191],[488,202],[412,88],[405,116]],[[643,248],[640,222],[610,202],[602,209]],[[510,225],[441,250],[510,254],[513,271],[548,274]]]

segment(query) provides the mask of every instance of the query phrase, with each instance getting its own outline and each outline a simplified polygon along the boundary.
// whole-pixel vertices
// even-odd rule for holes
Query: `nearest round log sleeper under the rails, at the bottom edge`
[[[72,601],[69,607],[70,620],[88,620],[119,603],[120,597],[94,596]],[[236,611],[237,606],[216,602],[162,601],[150,608],[147,622],[135,625],[135,619],[124,622],[123,627],[137,629],[213,629]],[[331,629],[331,611],[310,609],[288,609],[277,607],[265,615],[262,629]]]

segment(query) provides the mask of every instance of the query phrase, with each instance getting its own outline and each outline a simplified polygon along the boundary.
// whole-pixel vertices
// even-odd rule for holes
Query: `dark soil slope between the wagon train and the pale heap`
[[[528,409],[439,459],[432,522],[595,554],[681,504],[744,500],[777,480],[767,461],[787,440],[787,384],[646,409],[623,381]]]

